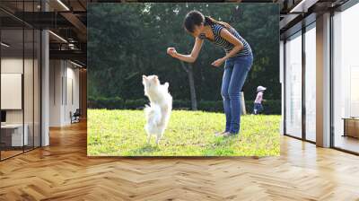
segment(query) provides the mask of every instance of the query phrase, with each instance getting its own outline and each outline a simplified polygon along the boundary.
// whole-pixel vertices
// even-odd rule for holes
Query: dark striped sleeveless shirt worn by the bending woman
[[[228,54],[232,50],[232,48],[234,48],[234,45],[231,42],[229,42],[226,39],[223,39],[221,37],[221,31],[223,29],[227,29],[228,31],[230,31],[232,33],[232,35],[235,38],[241,40],[241,43],[243,44],[243,49],[241,49],[237,54],[235,54],[232,57],[250,56],[252,54],[250,44],[245,39],[241,38],[241,35],[236,30],[234,30],[232,27],[228,29],[228,28],[223,27],[223,25],[217,24],[217,23],[210,24],[210,26],[215,35],[215,40],[211,40],[211,39],[209,39],[209,40],[211,42],[215,43],[216,46],[223,48],[226,54]],[[199,38],[206,39],[206,36],[201,35],[201,36],[199,36]]]

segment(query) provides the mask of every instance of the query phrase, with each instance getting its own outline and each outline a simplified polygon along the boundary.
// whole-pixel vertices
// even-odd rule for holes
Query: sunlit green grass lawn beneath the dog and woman
[[[280,116],[241,117],[240,135],[216,137],[222,113],[174,110],[159,145],[146,143],[143,110],[88,109],[87,154],[91,156],[279,155]]]

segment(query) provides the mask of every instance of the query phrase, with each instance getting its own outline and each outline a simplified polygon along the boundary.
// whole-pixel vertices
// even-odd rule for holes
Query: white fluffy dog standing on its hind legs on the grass
[[[150,100],[150,105],[145,105],[144,108],[147,143],[150,143],[151,135],[156,135],[158,144],[171,116],[172,96],[168,92],[169,83],[161,84],[157,75],[142,75],[142,83],[144,95]]]

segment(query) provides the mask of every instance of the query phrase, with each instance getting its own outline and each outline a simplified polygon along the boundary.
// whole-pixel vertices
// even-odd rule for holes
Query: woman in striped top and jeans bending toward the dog
[[[212,63],[219,67],[225,62],[221,94],[226,124],[224,131],[216,135],[236,135],[241,125],[241,88],[253,62],[250,45],[228,23],[217,22],[198,11],[189,12],[183,24],[186,31],[196,39],[192,52],[182,55],[175,48],[167,48],[167,53],[181,61],[193,63],[204,39],[224,49],[225,56]]]

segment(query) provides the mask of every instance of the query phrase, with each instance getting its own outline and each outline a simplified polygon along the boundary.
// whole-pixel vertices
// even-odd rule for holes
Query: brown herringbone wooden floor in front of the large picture
[[[0,200],[359,200],[359,157],[282,137],[266,158],[87,158],[86,125],[0,162]]]

